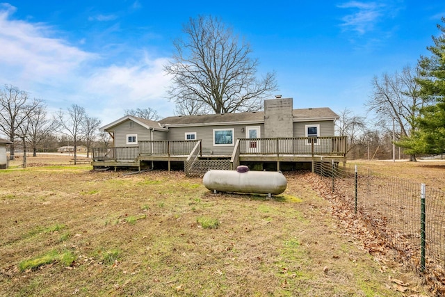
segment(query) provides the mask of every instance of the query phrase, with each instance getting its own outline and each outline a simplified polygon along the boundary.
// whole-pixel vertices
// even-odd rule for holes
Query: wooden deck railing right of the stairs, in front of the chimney
[[[243,138],[240,154],[309,154],[346,156],[346,136]]]

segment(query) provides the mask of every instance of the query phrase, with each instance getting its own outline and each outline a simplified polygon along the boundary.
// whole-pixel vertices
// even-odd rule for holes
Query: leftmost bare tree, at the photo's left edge
[[[40,99],[29,99],[28,93],[15,86],[5,85],[0,89],[0,130],[13,142],[10,159],[14,159],[14,139],[17,129],[29,118],[33,109],[42,104]]]

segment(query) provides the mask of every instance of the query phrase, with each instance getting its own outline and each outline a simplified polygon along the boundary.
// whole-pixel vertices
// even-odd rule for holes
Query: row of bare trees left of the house
[[[22,146],[24,166],[26,152],[33,150],[51,150],[51,144],[72,143],[74,163],[77,161],[77,146],[83,143],[90,154],[92,143],[99,139],[98,128],[101,121],[88,115],[85,109],[72,104],[66,110],[60,109],[54,115],[48,115],[47,106],[42,99],[31,98],[29,93],[17,86],[5,85],[0,88],[0,131],[10,145],[10,159],[15,158],[16,145]],[[107,137],[102,135],[104,142]]]

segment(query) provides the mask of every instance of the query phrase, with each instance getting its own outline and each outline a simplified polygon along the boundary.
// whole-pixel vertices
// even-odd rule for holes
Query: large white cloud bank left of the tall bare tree
[[[14,12],[13,6],[0,6],[1,85],[44,99],[50,111],[79,104],[104,123],[136,107],[172,115],[171,104],[163,99],[169,83],[162,69],[165,58],[135,56],[140,51],[129,49],[128,61],[104,66],[101,54],[70,45],[60,38],[63,32],[46,24],[10,19]]]

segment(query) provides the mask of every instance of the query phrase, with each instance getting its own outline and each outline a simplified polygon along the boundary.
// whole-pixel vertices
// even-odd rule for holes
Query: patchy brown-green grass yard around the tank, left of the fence
[[[268,199],[70,159],[0,170],[1,296],[428,296],[345,235],[310,173]]]

